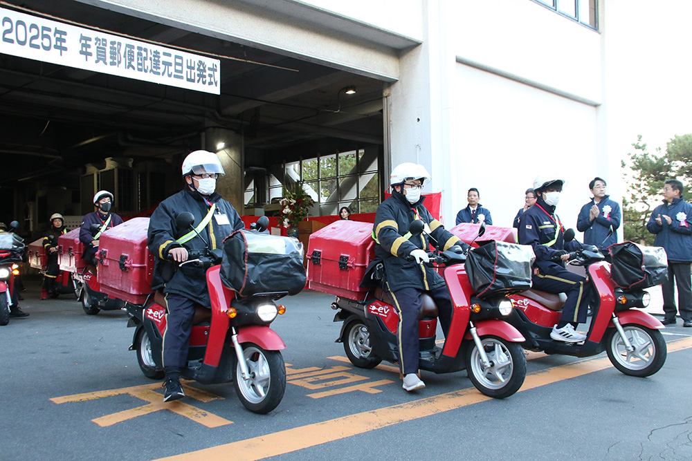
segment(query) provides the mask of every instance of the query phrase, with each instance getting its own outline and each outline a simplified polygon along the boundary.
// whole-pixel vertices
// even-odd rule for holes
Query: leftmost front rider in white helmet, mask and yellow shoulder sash
[[[224,167],[215,153],[194,151],[182,167],[183,190],[163,200],[149,220],[147,246],[154,259],[152,288],[163,289],[166,300],[166,329],[163,334],[163,367],[165,370],[164,402],[185,397],[180,383],[181,368],[188,357],[192,317],[197,305],[211,305],[207,291],[206,270],[176,263],[188,260],[188,250],[220,248],[224,238],[245,226],[233,205],[221,198],[216,180]],[[194,216],[195,231],[177,229],[176,218],[183,211]],[[199,234],[199,235],[198,235]]]

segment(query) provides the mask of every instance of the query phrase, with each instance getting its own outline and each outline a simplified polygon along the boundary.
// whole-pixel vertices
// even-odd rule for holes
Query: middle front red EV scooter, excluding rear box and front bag
[[[423,223],[415,220],[409,232],[421,234]],[[478,236],[485,232],[480,227]],[[451,247],[432,254],[431,263],[444,267],[444,279],[453,305],[452,323],[444,346],[435,345],[437,306],[427,294],[421,307],[419,368],[433,373],[464,370],[473,385],[485,395],[502,399],[519,390],[526,377],[526,358],[520,332],[504,319],[512,311],[504,294],[489,299],[475,297],[466,276],[466,253]],[[331,308],[338,310],[334,321],[343,321],[337,342],[352,364],[373,368],[382,360],[397,362],[399,315],[391,295],[377,288],[365,301],[337,297]]]

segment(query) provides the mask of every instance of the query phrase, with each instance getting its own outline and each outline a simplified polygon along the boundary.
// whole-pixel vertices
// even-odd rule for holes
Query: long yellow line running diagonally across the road
[[[692,338],[668,343],[668,352],[688,348],[692,348]],[[610,366],[610,360],[605,357],[602,359],[575,361],[571,364],[536,371],[527,375],[524,385],[519,392],[563,381],[564,379],[588,375],[589,373],[610,368]],[[421,417],[455,410],[490,399],[491,397],[486,397],[486,395],[481,394],[475,388],[466,388],[461,391],[419,399],[415,402],[365,411],[334,420],[308,424],[307,426],[286,429],[286,431],[260,435],[251,439],[212,446],[208,449],[161,459],[213,461],[226,460],[229,457],[233,457],[234,460],[261,460],[270,456],[291,453],[309,448],[310,446],[317,446],[366,433],[374,429],[392,426],[400,422],[417,420]]]

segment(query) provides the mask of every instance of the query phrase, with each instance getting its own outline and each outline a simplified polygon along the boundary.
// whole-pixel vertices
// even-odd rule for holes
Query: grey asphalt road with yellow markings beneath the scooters
[[[332,297],[303,292],[273,323],[287,346],[286,394],[255,415],[232,385],[190,383],[188,395],[203,392],[163,404],[128,350],[124,312],[88,316],[27,285],[30,317],[0,327],[1,460],[692,459],[692,331],[680,323],[664,331],[668,359],[652,377],[619,373],[605,353],[532,353],[508,399],[484,397],[463,371],[424,372],[427,387],[406,393],[391,365],[345,361]]]

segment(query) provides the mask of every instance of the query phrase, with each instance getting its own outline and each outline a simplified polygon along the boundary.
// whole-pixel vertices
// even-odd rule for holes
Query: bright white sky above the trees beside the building
[[[665,151],[692,133],[692,1],[605,1],[610,146],[626,156],[642,135]]]

